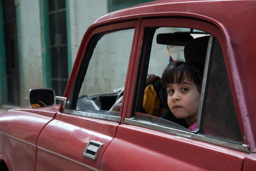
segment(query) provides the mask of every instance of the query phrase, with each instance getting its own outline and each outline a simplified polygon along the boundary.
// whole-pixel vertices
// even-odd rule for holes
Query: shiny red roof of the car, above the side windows
[[[214,7],[214,8],[213,8]],[[256,1],[203,1],[203,0],[159,0],[144,3],[131,8],[113,11],[100,17],[95,23],[109,20],[135,19],[140,17],[186,15],[202,19],[215,19],[224,21],[230,17],[236,18],[246,11],[248,15],[255,15]],[[251,9],[251,10],[250,10]],[[254,10],[252,10],[254,9]]]

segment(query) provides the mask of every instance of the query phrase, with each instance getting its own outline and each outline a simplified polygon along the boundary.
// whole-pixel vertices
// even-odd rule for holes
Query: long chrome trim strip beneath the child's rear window
[[[243,151],[243,152],[250,153],[250,151],[248,149],[248,146],[246,144],[235,144],[235,143],[227,142],[227,141],[224,141],[224,140],[218,140],[216,138],[205,137],[204,135],[199,135],[199,134],[190,132],[189,130],[184,131],[184,130],[178,130],[178,129],[170,128],[170,127],[163,126],[163,125],[158,125],[156,123],[149,123],[149,122],[145,123],[145,121],[141,121],[139,119],[134,119],[134,118],[125,118],[124,123],[125,124],[131,124],[131,125],[134,125],[134,126],[140,126],[140,127],[143,127],[143,128],[148,128],[148,129],[151,129],[151,130],[161,131],[161,132],[164,132],[164,133],[169,133],[169,134],[177,135],[177,136],[180,136],[180,137],[190,138],[190,139],[193,139],[193,140],[208,142],[208,143],[211,143],[211,144],[220,145],[220,146],[227,147],[227,148],[230,148],[230,149],[235,149],[235,150],[238,150],[238,151]]]

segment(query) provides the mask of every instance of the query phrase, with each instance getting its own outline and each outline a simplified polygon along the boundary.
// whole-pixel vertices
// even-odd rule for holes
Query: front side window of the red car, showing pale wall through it
[[[133,34],[125,29],[93,36],[73,90],[71,109],[77,114],[119,114]]]

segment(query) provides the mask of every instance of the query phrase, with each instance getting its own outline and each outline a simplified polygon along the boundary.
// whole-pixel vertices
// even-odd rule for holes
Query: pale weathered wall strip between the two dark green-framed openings
[[[35,0],[19,1],[19,31],[22,80],[20,105],[28,105],[31,87],[42,87],[42,52],[40,43],[39,3]]]

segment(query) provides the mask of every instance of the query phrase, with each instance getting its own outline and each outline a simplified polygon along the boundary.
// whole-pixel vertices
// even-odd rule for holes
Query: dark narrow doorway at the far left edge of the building
[[[14,0],[2,0],[8,105],[20,105],[19,48]]]

